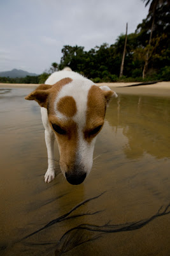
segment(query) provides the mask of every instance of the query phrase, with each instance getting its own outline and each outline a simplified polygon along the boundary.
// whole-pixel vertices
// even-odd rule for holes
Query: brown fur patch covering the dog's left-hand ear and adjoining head
[[[36,100],[39,106],[43,108],[48,108],[49,102],[55,100],[57,93],[59,93],[62,86],[71,83],[73,80],[69,77],[61,79],[57,83],[50,85],[50,84],[41,84],[34,90],[33,92],[29,93],[25,97],[26,100]],[[51,102],[50,102],[51,103]],[[51,105],[51,104],[50,104]]]

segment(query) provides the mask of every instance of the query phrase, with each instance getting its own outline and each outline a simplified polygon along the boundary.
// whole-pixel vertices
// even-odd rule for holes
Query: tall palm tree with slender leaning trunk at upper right
[[[148,42],[148,51],[146,52],[146,60],[145,60],[144,68],[143,68],[143,78],[145,78],[146,70],[148,68],[149,51],[150,51],[150,45],[152,42],[153,28],[154,28],[154,24],[155,24],[156,9],[157,9],[157,6],[159,6],[160,4],[167,2],[167,1],[169,1],[169,0],[143,0],[143,2],[146,2],[145,7],[150,3],[149,14],[152,15],[152,26],[150,29],[150,40]]]

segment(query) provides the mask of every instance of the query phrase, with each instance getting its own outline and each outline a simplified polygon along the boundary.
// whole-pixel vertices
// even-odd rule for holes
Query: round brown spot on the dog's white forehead
[[[77,111],[76,102],[71,96],[62,97],[57,104],[57,109],[67,117],[72,117]]]

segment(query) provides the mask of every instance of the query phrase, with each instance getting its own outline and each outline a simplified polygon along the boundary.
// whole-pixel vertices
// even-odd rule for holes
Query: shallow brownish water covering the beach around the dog
[[[31,91],[0,89],[0,254],[169,255],[170,99],[118,95],[92,172],[72,186],[60,174],[43,181],[40,108],[24,100]]]

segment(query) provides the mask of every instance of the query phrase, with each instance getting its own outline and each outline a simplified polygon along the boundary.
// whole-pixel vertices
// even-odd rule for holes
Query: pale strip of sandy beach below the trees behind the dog
[[[141,86],[130,86],[138,83],[98,83],[98,86],[107,85],[117,93],[125,93],[131,95],[153,95],[170,97],[170,81],[159,82],[156,84],[141,85]],[[24,88],[24,87],[36,87],[39,84],[10,84],[0,83],[0,88]],[[130,87],[127,87],[130,86]]]

